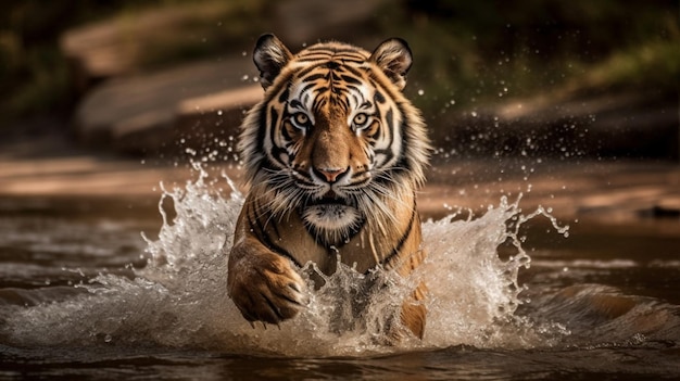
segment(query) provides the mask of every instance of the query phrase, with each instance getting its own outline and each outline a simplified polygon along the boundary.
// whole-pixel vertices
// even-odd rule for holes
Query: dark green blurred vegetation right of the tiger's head
[[[427,114],[508,97],[678,91],[676,1],[405,0],[388,4],[385,34],[410,41],[410,91]]]

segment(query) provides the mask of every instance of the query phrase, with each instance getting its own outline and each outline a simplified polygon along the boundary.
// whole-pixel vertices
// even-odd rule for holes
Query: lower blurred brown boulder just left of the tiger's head
[[[78,105],[76,135],[90,147],[158,151],[176,135],[182,102],[226,89],[240,92],[248,85],[243,77],[253,74],[250,59],[238,56],[105,81]]]

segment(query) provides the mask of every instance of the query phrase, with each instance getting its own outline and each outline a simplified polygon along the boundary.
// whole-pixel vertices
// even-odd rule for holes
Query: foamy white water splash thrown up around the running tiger
[[[199,176],[184,188],[164,190],[159,239],[147,240],[148,265],[134,278],[100,275],[87,293],[33,307],[11,306],[0,315],[0,338],[21,345],[162,345],[284,356],[364,356],[452,345],[531,347],[546,345],[558,331],[515,315],[525,290],[518,271],[530,257],[518,229],[527,220],[550,215],[542,208],[522,215],[518,201],[502,199],[478,218],[453,214],[424,224],[427,262],[408,278],[376,270],[369,275],[340,266],[326,277],[310,304],[279,327],[251,327],[226,290],[227,258],[232,231],[243,204],[236,190],[224,196],[222,181],[200,166]],[[172,201],[175,216],[163,207]],[[556,226],[555,226],[556,227]],[[566,232],[566,228],[559,228]],[[514,247],[502,259],[499,247]],[[314,270],[305,266],[306,277]],[[373,278],[370,292],[356,284]],[[428,322],[423,341],[406,338],[388,344],[383,329],[401,301],[425,280]],[[313,287],[308,288],[313,290]],[[354,316],[351,301],[364,299],[366,313]],[[340,326],[339,326],[340,325]],[[550,343],[547,343],[550,344]]]

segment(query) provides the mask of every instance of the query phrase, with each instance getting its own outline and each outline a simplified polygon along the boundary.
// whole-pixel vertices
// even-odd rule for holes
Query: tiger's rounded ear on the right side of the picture
[[[375,62],[400,89],[406,86],[406,73],[413,63],[408,43],[401,38],[390,38],[376,48],[369,61]]]

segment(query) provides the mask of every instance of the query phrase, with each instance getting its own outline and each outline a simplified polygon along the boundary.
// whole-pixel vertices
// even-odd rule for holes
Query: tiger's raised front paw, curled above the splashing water
[[[229,258],[228,293],[248,321],[279,323],[306,305],[304,281],[289,259],[274,253]]]

